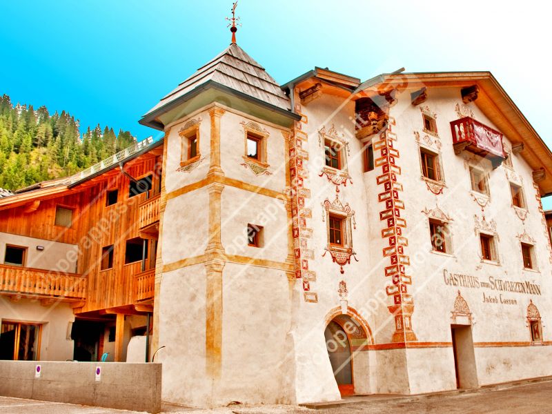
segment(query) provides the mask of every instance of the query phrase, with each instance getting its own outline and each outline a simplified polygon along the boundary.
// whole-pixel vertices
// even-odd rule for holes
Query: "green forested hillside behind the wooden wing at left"
[[[38,181],[72,175],[135,142],[130,132],[86,129],[68,112],[50,115],[8,95],[0,97],[0,188],[17,190]]]

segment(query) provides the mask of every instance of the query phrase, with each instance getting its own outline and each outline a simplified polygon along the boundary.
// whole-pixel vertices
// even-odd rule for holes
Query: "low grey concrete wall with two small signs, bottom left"
[[[0,395],[159,413],[161,364],[0,361]]]

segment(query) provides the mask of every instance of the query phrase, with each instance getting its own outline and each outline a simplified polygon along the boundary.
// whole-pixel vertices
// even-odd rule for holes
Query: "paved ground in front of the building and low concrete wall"
[[[486,413],[524,414],[552,413],[552,381],[515,386],[500,391],[481,390],[460,395],[433,395],[411,397],[402,400],[371,400],[355,402],[324,410],[309,410],[295,406],[242,406],[233,405],[216,410],[190,410],[177,406],[165,406],[164,413],[193,414],[426,414],[426,413]],[[0,414],[130,414],[134,411],[78,406],[56,402],[20,400],[0,397]]]

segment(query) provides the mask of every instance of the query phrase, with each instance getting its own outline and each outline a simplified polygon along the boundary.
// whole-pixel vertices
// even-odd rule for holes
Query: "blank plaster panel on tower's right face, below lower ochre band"
[[[270,300],[266,300],[270,297]],[[226,264],[223,271],[222,374],[219,404],[293,403],[286,335],[290,289],[282,270]]]

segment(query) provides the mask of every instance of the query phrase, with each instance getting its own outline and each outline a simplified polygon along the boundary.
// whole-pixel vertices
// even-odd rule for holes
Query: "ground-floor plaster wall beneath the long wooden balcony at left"
[[[11,302],[0,297],[0,322],[32,322],[42,324],[40,346],[41,361],[65,361],[73,357],[73,341],[70,337],[70,323],[75,322],[72,308],[66,303],[42,306],[38,301],[21,299]]]

